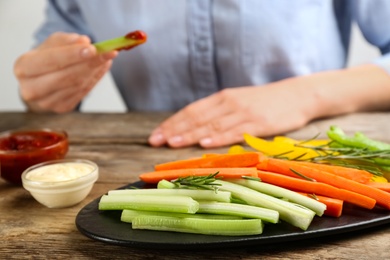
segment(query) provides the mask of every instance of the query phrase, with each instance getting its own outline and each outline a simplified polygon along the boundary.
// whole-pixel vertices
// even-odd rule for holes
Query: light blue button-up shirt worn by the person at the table
[[[177,110],[223,88],[343,68],[352,22],[390,73],[388,0],[51,0],[46,14],[37,43],[55,31],[147,33],[111,70],[129,110]]]

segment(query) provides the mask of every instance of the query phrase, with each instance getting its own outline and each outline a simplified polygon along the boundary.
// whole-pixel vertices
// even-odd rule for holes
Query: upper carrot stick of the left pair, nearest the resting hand
[[[258,153],[220,154],[202,158],[172,161],[154,166],[156,171],[188,168],[255,167],[260,161]]]

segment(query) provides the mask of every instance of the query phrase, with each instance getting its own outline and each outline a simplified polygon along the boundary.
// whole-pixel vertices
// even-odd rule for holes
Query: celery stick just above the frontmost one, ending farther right
[[[198,202],[199,210],[197,213],[224,214],[240,216],[244,218],[258,218],[270,223],[278,223],[279,221],[279,212],[272,209],[216,201]]]

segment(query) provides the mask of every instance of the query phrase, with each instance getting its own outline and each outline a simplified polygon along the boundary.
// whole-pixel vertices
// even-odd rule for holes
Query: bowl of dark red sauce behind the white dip
[[[22,184],[28,167],[65,158],[68,134],[62,130],[26,129],[0,133],[0,175],[13,184]]]

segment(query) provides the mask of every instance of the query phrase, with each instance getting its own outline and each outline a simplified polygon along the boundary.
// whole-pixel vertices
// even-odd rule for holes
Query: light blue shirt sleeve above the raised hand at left
[[[48,0],[45,20],[35,32],[36,45],[54,32],[75,32],[91,36],[90,30],[75,0]]]

